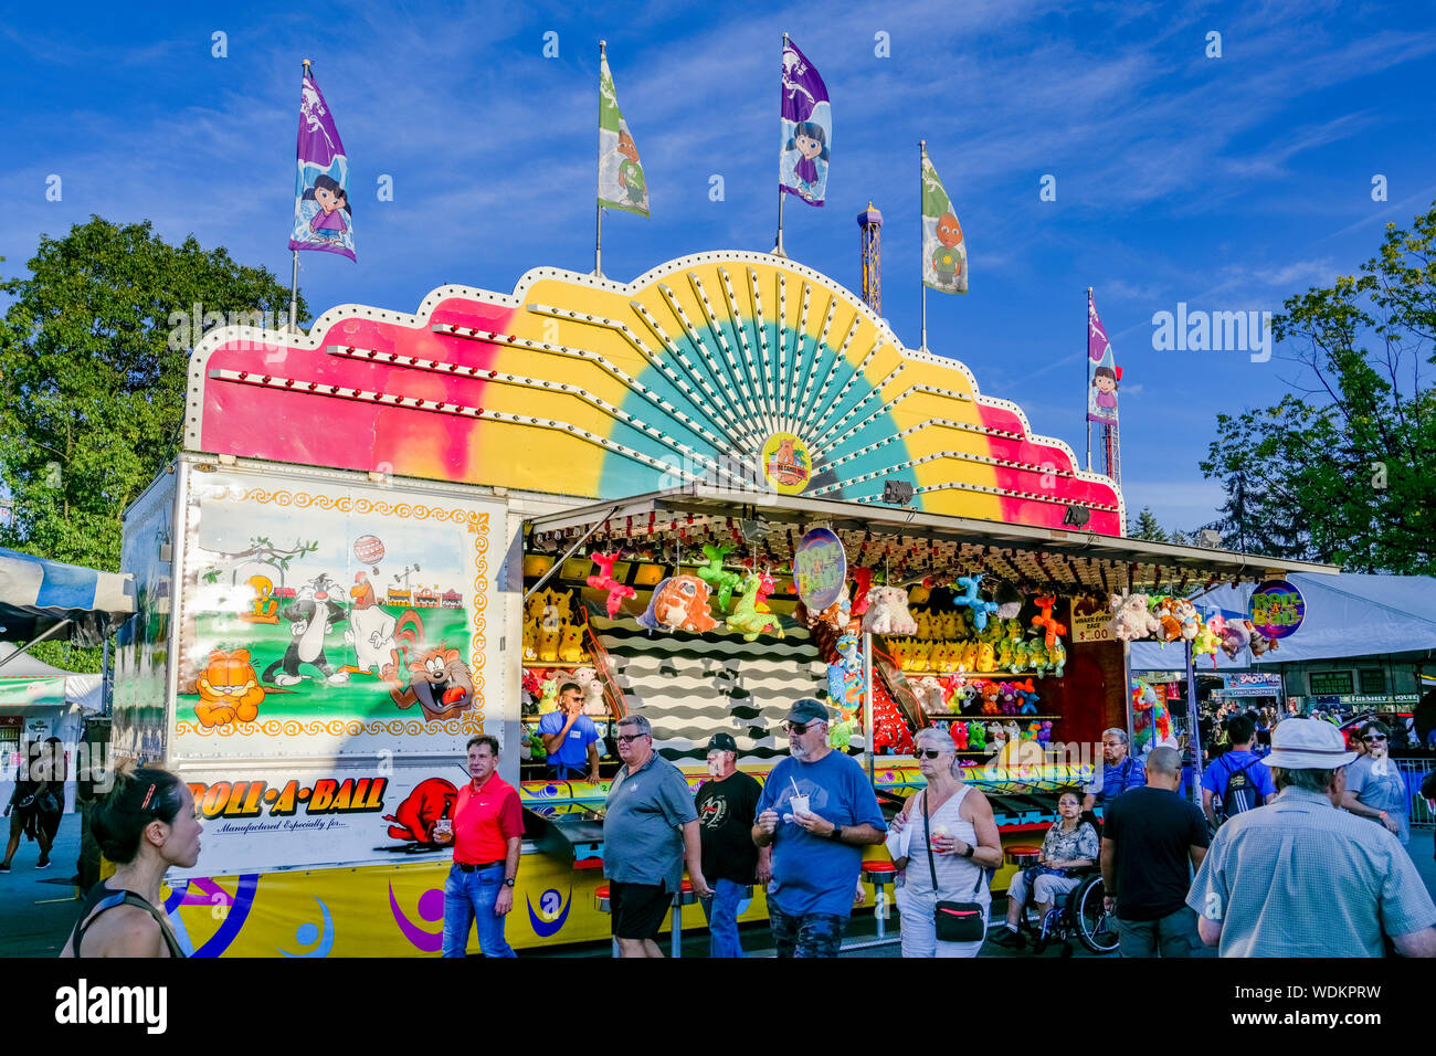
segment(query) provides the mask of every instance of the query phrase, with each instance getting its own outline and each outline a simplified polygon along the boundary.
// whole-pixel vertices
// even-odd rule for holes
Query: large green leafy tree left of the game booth
[[[0,282],[0,546],[118,570],[121,516],[180,447],[195,306],[210,326],[284,320],[289,289],[192,236],[99,217],[42,236],[29,272]]]

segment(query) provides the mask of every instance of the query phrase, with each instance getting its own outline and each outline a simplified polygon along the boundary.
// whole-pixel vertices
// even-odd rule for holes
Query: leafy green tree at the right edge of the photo
[[[1272,320],[1295,389],[1216,417],[1202,471],[1226,503],[1211,524],[1249,553],[1351,572],[1436,572],[1436,207],[1386,226],[1357,276],[1290,297]]]

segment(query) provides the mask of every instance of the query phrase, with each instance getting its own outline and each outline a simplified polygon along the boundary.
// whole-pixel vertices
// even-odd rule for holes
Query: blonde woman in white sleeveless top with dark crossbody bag
[[[899,869],[902,955],[976,957],[984,940],[939,941],[933,912],[938,902],[976,902],[982,907],[985,930],[992,905],[987,872],[1002,865],[992,805],[962,782],[956,746],[942,730],[919,730],[913,737],[913,754],[928,787],[909,796],[902,813],[887,826],[889,833],[898,833],[889,838],[887,848]],[[900,855],[902,851],[906,853]]]

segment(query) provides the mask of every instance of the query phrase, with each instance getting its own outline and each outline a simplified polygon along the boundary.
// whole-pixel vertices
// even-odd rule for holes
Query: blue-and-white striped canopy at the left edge
[[[134,613],[135,580],[128,573],[0,547],[0,642],[32,642],[70,621],[52,638],[99,645]]]

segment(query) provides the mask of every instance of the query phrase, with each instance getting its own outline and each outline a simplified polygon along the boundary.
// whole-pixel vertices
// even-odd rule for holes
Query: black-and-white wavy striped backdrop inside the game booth
[[[629,711],[648,718],[653,747],[679,764],[702,763],[719,731],[738,743],[740,763],[787,756],[778,724],[788,707],[800,697],[827,698],[827,664],[806,631],[745,642],[686,631],[651,635],[632,619],[590,622]]]

